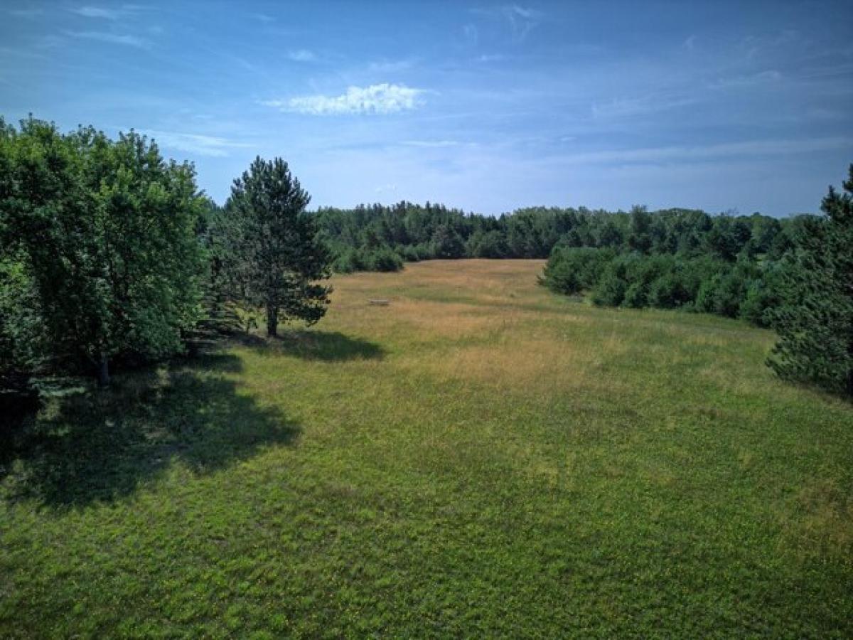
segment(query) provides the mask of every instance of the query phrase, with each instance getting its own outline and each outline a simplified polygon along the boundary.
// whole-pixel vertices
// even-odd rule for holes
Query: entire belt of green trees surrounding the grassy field
[[[742,317],[776,329],[780,375],[853,395],[853,166],[824,215],[532,207],[490,217],[401,201],[308,210],[260,158],[222,207],[194,166],[133,131],[112,140],[0,119],[0,387],[185,352],[200,336],[316,323],[331,271],[548,259],[540,281],[597,305]]]

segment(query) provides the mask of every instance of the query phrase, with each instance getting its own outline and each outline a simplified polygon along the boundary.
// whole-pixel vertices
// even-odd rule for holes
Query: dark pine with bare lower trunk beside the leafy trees
[[[326,313],[331,255],[305,212],[310,196],[287,162],[256,158],[234,181],[225,206],[229,220],[229,268],[235,290],[248,305],[264,308],[267,335],[280,322],[313,324]]]

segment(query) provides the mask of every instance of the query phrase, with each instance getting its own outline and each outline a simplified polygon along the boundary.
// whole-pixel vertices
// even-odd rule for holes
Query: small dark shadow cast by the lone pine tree
[[[241,338],[241,343],[255,349],[323,362],[381,360],[385,357],[385,350],[376,343],[352,338],[339,331],[294,329],[282,332],[277,338],[247,335]]]

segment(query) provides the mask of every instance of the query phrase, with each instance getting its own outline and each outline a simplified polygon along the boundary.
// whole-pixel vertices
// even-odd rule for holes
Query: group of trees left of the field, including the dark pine
[[[113,365],[185,352],[241,310],[270,335],[316,323],[331,256],[309,201],[281,159],[255,160],[216,207],[191,164],[134,131],[0,118],[0,389],[43,372],[107,385]]]

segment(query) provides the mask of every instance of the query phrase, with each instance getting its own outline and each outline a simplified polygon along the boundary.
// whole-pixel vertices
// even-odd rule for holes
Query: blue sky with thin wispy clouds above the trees
[[[144,0],[142,0],[144,2]],[[131,127],[223,202],[816,211],[853,161],[853,3],[26,3],[0,113]]]

